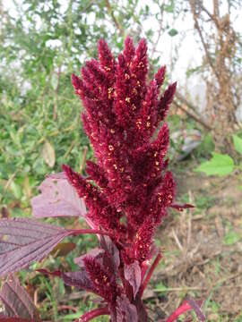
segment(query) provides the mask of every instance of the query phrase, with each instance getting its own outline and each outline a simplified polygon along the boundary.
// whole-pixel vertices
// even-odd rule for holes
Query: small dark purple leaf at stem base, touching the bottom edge
[[[138,322],[137,310],[124,294],[117,297],[117,322],[123,321]]]

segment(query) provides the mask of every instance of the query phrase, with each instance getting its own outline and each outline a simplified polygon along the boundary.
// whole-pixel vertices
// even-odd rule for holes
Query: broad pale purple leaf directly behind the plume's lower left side
[[[39,186],[41,194],[31,199],[33,216],[85,216],[86,207],[65,173],[52,174]]]

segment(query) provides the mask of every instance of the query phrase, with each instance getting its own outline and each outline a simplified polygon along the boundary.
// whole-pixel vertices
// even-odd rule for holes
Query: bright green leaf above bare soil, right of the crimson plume
[[[212,159],[198,166],[194,171],[204,172],[207,175],[227,175],[234,170],[234,161],[229,155],[212,153]]]

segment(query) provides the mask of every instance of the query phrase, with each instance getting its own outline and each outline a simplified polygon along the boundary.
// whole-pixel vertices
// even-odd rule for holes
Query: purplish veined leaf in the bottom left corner
[[[0,299],[4,303],[5,321],[7,317],[12,317],[8,321],[40,321],[37,308],[15,276],[10,276],[4,283]]]

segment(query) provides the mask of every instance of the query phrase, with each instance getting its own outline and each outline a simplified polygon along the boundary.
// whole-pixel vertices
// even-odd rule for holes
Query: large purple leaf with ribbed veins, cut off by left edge
[[[0,276],[45,258],[70,231],[33,219],[0,220]]]

